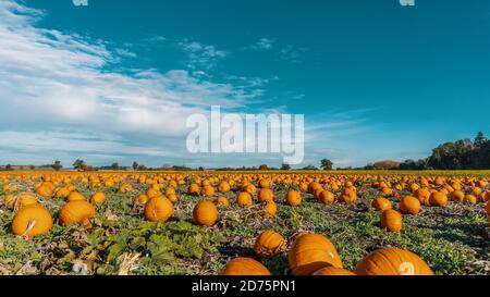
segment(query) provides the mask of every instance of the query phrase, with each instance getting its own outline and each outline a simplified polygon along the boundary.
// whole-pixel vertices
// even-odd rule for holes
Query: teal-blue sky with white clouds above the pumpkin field
[[[0,1],[0,163],[281,163],[186,153],[211,103],[305,114],[304,165],[490,133],[489,1],[88,2]]]

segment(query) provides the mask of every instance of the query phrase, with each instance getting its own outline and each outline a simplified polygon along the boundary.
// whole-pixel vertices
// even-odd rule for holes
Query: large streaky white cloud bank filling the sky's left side
[[[41,144],[56,147],[60,138],[52,131],[64,127],[81,134],[97,131],[121,136],[126,141],[140,135],[159,140],[185,137],[187,115],[204,113],[211,104],[240,108],[261,95],[261,90],[213,83],[183,70],[113,72],[111,67],[120,57],[135,54],[123,49],[111,51],[103,41],[37,27],[36,22],[44,16],[40,10],[0,1],[0,132],[8,132],[3,139],[9,139],[12,150]],[[209,66],[225,57],[198,42],[188,44],[186,50],[196,66]],[[23,135],[21,128],[45,138],[25,144],[21,140],[30,136]],[[66,145],[59,148],[68,151],[90,146],[91,140],[77,143],[65,137],[63,141]],[[124,151],[118,143],[99,145],[94,147],[99,154]],[[138,150],[161,154],[152,146]],[[158,151],[172,156],[161,147]]]

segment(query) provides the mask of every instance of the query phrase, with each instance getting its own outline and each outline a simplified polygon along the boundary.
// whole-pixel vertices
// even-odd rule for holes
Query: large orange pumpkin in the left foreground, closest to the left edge
[[[34,226],[26,232],[30,222],[34,223]],[[22,208],[12,220],[12,232],[17,236],[25,235],[27,238],[33,238],[48,233],[51,228],[51,213],[40,205]]]

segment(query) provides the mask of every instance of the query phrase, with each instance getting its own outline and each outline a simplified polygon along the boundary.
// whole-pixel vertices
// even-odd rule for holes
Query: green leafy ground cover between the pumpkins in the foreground
[[[385,232],[379,225],[379,213],[370,201],[373,190],[360,191],[356,205],[320,205],[304,197],[298,208],[284,203],[286,187],[278,187],[278,215],[264,219],[259,207],[238,208],[234,194],[226,196],[229,209],[221,209],[213,227],[192,223],[192,209],[203,199],[179,189],[175,215],[167,223],[145,222],[142,208],[131,200],[146,187],[136,185],[133,194],[102,189],[107,203],[98,207],[94,227],[62,227],[57,213],[61,200],[46,203],[53,213],[53,230],[32,240],[12,235],[11,210],[0,207],[0,274],[76,274],[74,263],[84,263],[88,274],[118,274],[131,268],[132,274],[219,274],[234,257],[253,257],[255,238],[272,228],[287,239],[297,232],[317,232],[336,246],[344,265],[355,264],[369,252],[383,247],[414,251],[437,274],[490,274],[488,220],[482,205],[454,205],[448,208],[424,208],[416,216],[404,215],[401,233]],[[86,197],[94,189],[78,188]],[[0,199],[4,196],[0,193]],[[393,199],[396,206],[396,200]],[[137,256],[136,261],[127,261]],[[126,260],[125,260],[126,258]],[[259,259],[272,274],[290,274],[286,252]],[[86,267],[85,267],[86,265]]]

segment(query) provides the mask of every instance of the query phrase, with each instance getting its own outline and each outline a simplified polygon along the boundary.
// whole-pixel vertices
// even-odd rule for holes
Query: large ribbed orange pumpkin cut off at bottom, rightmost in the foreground
[[[427,263],[412,251],[384,248],[371,252],[355,268],[357,275],[433,275]]]

